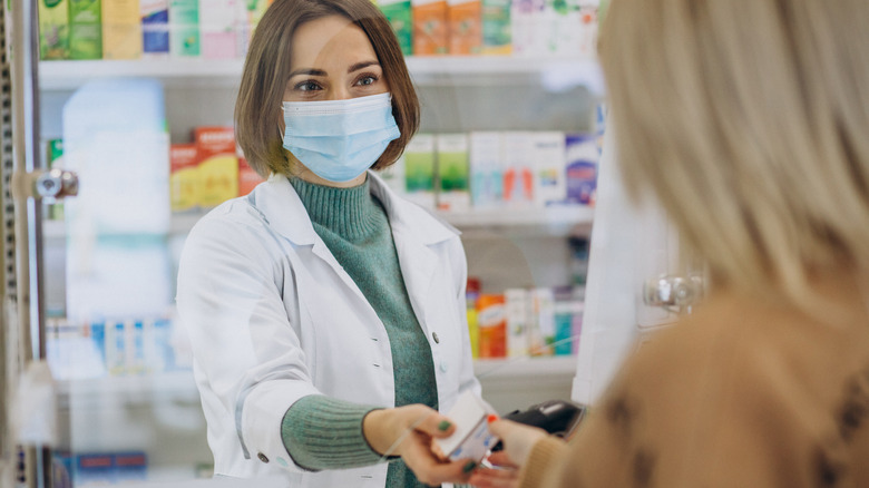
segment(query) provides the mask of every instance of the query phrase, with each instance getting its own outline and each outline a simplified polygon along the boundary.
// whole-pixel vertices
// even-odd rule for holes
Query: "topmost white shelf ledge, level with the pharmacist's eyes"
[[[490,84],[489,76],[507,82],[504,75],[534,76],[557,88],[562,85],[586,85],[594,91],[603,86],[599,66],[590,57],[510,57],[510,56],[442,56],[409,57],[408,69],[418,84],[450,84],[478,80]],[[43,90],[72,90],[87,81],[101,78],[149,77],[167,86],[235,87],[241,79],[242,59],[137,59],[41,61],[39,85]]]

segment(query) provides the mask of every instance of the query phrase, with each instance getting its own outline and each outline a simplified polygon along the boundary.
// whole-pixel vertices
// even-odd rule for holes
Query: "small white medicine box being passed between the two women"
[[[472,459],[479,462],[498,438],[489,432],[487,421],[495,410],[470,391],[459,396],[447,417],[456,424],[456,431],[446,439],[436,439],[443,455],[450,460]]]

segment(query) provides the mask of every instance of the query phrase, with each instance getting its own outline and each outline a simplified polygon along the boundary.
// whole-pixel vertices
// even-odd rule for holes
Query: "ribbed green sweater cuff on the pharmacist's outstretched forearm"
[[[286,410],[281,438],[293,461],[311,471],[371,466],[382,457],[365,440],[362,420],[378,408],[312,394]]]

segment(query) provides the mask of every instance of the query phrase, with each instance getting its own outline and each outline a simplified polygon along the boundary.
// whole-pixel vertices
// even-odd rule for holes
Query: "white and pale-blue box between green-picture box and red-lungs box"
[[[501,133],[475,131],[469,140],[470,194],[475,208],[492,208],[504,199]]]

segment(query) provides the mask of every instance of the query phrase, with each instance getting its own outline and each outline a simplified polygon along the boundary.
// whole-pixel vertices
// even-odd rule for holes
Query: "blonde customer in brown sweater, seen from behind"
[[[624,182],[663,205],[710,291],[569,445],[492,422],[500,462],[524,487],[869,486],[869,2],[614,0],[607,16]],[[509,470],[471,482],[514,486]]]

